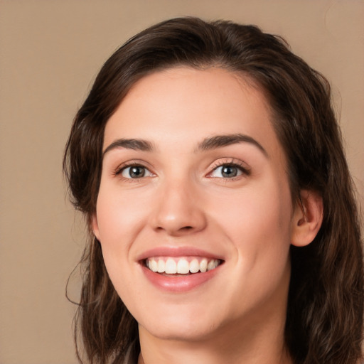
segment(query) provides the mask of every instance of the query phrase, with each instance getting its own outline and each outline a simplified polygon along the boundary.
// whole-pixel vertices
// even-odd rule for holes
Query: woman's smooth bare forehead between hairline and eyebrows
[[[247,134],[277,148],[263,92],[244,75],[221,68],[171,68],[141,78],[105,128],[104,149],[118,138],[173,146],[214,134]]]

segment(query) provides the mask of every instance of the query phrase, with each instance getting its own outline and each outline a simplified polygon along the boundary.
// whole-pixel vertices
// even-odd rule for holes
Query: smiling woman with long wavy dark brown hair
[[[87,363],[358,363],[363,264],[323,76],[255,26],[125,43],[65,151]]]

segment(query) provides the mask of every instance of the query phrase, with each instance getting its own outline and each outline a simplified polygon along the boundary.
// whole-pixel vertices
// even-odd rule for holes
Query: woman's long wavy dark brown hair
[[[175,18],[122,45],[97,75],[75,117],[64,170],[75,208],[95,213],[105,124],[144,75],[176,65],[220,67],[263,90],[287,155],[292,198],[301,189],[323,198],[323,224],[314,242],[291,247],[285,341],[296,364],[351,364],[361,354],[363,252],[353,183],[326,79],[278,36],[228,21]],[[89,363],[119,363],[139,350],[137,322],[109,280],[100,242],[90,234],[77,313]],[[80,358],[80,357],[79,357]]]

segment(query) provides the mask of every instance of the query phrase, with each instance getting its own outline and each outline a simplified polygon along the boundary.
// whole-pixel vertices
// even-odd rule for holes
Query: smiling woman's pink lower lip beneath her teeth
[[[186,276],[164,276],[162,274],[152,272],[144,266],[142,266],[142,269],[146,278],[159,289],[172,292],[186,292],[212,279],[217,273],[219,267],[220,266],[215,269],[211,269],[208,272],[186,274]]]

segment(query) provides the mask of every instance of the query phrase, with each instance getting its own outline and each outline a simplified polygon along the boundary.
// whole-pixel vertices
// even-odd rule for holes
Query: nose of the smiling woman
[[[183,236],[199,232],[207,220],[198,188],[193,183],[176,181],[159,186],[157,202],[151,218],[156,231],[171,236]]]

